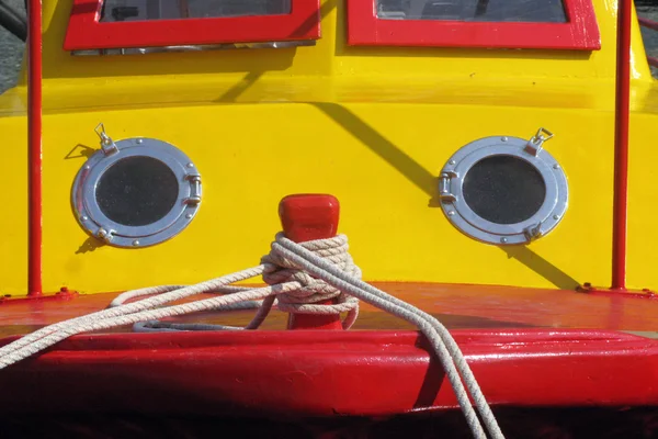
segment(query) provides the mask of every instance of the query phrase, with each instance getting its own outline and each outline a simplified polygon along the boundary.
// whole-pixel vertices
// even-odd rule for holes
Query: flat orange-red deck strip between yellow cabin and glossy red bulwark
[[[658,300],[632,294],[597,295],[570,290],[436,283],[374,284],[432,314],[450,329],[543,327],[655,331],[658,328]],[[117,295],[80,294],[65,303],[8,300],[0,305],[0,338],[103,309]],[[252,317],[252,311],[214,312],[181,316],[175,322],[245,326]],[[263,330],[283,330],[286,319],[284,313],[271,313],[261,327]],[[413,329],[413,326],[362,303],[354,329],[386,328]]]

